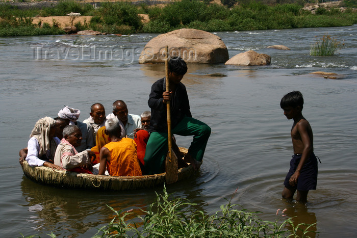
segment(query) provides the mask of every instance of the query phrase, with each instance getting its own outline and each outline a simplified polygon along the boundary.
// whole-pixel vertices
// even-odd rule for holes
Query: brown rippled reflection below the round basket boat
[[[109,223],[115,216],[106,204],[115,210],[134,209],[131,216],[143,215],[138,209],[145,210],[144,197],[135,196],[135,200],[114,199],[117,194],[70,189],[58,189],[37,184],[23,177],[21,181],[22,195],[28,204],[31,216],[26,220],[32,228],[40,232],[53,231],[59,236],[79,236],[100,224]],[[85,199],[84,199],[85,198]]]

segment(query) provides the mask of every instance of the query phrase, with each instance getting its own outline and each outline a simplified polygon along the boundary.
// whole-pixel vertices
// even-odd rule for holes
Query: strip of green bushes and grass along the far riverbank
[[[222,0],[227,6],[210,1],[182,0],[165,7],[140,6],[129,2],[102,3],[93,9],[89,3],[73,0],[60,1],[51,8],[19,10],[7,4],[0,4],[0,36],[64,34],[56,25],[45,30],[41,24],[34,25],[35,16],[64,16],[79,12],[93,16],[90,22],[77,24],[80,30],[95,30],[120,34],[166,33],[181,28],[195,28],[204,31],[242,31],[291,28],[341,27],[357,23],[357,14],[352,9],[318,8],[316,14],[302,10],[302,1],[288,4],[266,5],[262,2]],[[355,6],[356,0],[345,0],[346,6]],[[287,3],[288,0],[278,1]],[[231,7],[231,8],[230,8]],[[150,21],[142,23],[138,13],[148,14]],[[26,19],[26,20],[23,20]],[[26,31],[23,28],[26,27]]]

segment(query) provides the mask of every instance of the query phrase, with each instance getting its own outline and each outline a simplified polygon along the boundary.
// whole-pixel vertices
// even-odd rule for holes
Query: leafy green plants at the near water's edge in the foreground
[[[258,211],[248,211],[231,204],[231,200],[209,216],[187,199],[169,200],[164,188],[164,193],[157,195],[147,211],[141,210],[145,216],[138,216],[138,222],[127,218],[132,217],[132,211],[110,207],[117,217],[101,227],[94,237],[307,237],[314,232],[309,230],[315,224],[295,226],[290,218],[263,221]]]

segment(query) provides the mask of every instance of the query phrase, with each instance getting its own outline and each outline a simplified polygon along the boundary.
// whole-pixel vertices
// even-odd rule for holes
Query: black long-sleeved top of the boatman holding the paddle
[[[166,103],[163,93],[166,91],[165,77],[151,86],[148,105],[151,108],[149,132],[167,132]],[[185,85],[180,83],[171,94],[171,128],[174,128],[185,117],[192,117]]]

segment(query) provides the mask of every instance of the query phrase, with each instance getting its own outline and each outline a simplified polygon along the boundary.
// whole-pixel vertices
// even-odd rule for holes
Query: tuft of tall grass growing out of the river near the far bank
[[[331,38],[329,35],[323,35],[320,40],[316,37],[315,44],[310,47],[310,55],[333,56],[340,46],[341,42],[337,41],[335,38]]]

